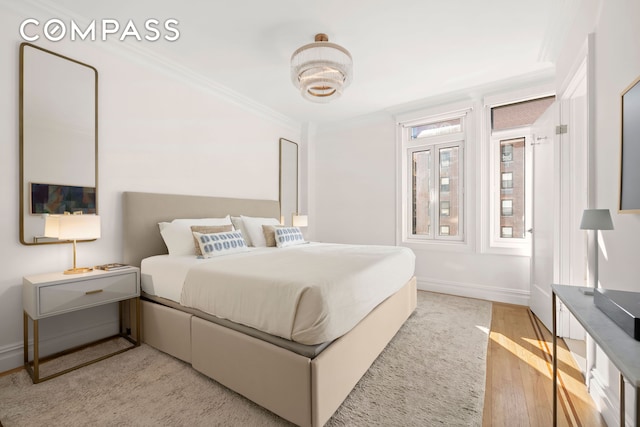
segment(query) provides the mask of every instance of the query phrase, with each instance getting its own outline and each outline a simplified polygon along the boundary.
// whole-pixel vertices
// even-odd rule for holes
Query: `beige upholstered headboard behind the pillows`
[[[167,253],[159,222],[226,215],[280,218],[280,204],[276,200],[124,192],[122,208],[123,260],[138,267],[146,257]]]

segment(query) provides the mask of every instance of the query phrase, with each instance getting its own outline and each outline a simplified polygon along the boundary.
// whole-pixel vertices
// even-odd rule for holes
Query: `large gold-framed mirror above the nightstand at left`
[[[43,215],[97,213],[98,71],[20,45],[20,242],[43,237]]]

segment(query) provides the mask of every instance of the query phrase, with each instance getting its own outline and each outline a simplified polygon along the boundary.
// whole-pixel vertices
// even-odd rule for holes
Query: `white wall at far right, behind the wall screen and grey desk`
[[[557,64],[558,85],[567,77],[589,33],[595,37],[594,208],[611,210],[615,230],[601,233],[599,281],[605,288],[640,292],[640,215],[618,214],[620,95],[640,76],[640,2],[588,0],[571,29]],[[640,183],[638,183],[640,185]],[[590,392],[609,425],[619,425],[618,371],[600,350]],[[635,393],[627,385],[627,422],[634,419]]]

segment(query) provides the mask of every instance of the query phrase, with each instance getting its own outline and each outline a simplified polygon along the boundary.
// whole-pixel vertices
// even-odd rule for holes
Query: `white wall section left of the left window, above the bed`
[[[395,244],[395,127],[388,114],[316,132],[311,183],[316,240]]]

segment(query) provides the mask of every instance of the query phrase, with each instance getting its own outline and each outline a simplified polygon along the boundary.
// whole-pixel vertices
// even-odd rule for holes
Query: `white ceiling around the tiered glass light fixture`
[[[299,122],[348,119],[465,88],[552,72],[580,0],[50,0],[87,20],[179,21],[175,42],[139,43]],[[329,104],[304,100],[289,59],[316,33],[348,49],[354,80]],[[135,41],[134,41],[135,43]]]

